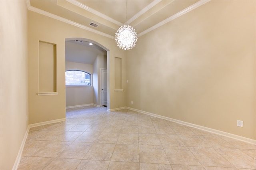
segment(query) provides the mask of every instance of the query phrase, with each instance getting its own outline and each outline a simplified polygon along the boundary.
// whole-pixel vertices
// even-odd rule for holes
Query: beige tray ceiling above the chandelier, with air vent
[[[114,39],[116,30],[125,23],[136,30],[139,38],[208,1],[27,0],[26,2],[28,10]],[[98,26],[95,28],[90,26],[90,23]]]

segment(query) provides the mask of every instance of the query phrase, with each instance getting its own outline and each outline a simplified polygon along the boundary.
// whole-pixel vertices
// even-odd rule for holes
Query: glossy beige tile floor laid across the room
[[[18,169],[256,169],[254,144],[127,109],[67,109],[66,119],[30,128]]]

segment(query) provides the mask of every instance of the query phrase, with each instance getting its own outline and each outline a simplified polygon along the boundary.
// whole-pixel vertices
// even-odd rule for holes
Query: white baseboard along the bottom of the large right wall
[[[182,124],[182,125],[186,125],[186,126],[189,126],[189,127],[198,128],[200,130],[205,130],[205,131],[212,132],[212,133],[215,133],[215,134],[220,134],[220,135],[223,135],[223,136],[226,136],[226,137],[229,137],[229,138],[234,138],[236,140],[241,140],[243,142],[248,142],[248,143],[251,143],[251,144],[256,144],[256,140],[253,140],[253,139],[250,139],[250,138],[246,138],[246,137],[243,137],[243,136],[238,136],[236,134],[231,134],[231,133],[223,132],[223,131],[216,130],[216,129],[213,129],[213,128],[208,128],[208,127],[203,127],[203,126],[200,126],[200,125],[195,125],[195,124],[192,124],[192,123],[180,121],[180,120],[177,120],[177,119],[172,119],[172,118],[169,118],[169,117],[164,117],[164,116],[161,116],[161,115],[156,115],[154,113],[149,113],[149,112],[146,112],[146,111],[141,111],[141,110],[138,110],[138,109],[133,109],[131,107],[126,107],[126,108],[129,109],[129,110],[132,110],[132,111],[144,113],[146,115],[150,115],[150,116],[158,117],[158,118],[161,118],[161,119],[165,119],[167,121],[172,121],[172,122],[179,123],[179,124]],[[112,109],[112,110],[115,110],[115,109]]]

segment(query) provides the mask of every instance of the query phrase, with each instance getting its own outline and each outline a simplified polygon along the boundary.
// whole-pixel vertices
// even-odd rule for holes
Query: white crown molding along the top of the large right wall
[[[199,6],[205,4],[205,3],[209,2],[209,1],[210,0],[200,0],[200,1],[196,2],[195,4],[189,6],[188,8],[185,8],[184,10],[182,10],[182,11],[180,11],[180,12],[178,12],[178,13],[172,15],[172,16],[170,16],[169,18],[167,18],[167,19],[159,22],[158,24],[148,28],[147,30],[141,32],[140,34],[138,34],[138,37],[140,37],[140,36],[150,32],[152,30],[155,30],[156,28],[158,28],[158,27],[160,27],[160,26],[162,26],[162,25],[164,25],[164,24],[166,24],[166,23],[168,23],[168,22],[170,22],[170,21],[172,21],[172,20],[174,20],[174,19],[176,19],[176,18],[178,18],[178,17],[180,17],[180,16],[182,16],[182,15],[184,15],[184,14],[186,14],[186,13],[188,13],[188,12],[194,10],[194,9],[196,9],[196,8],[198,8]]]

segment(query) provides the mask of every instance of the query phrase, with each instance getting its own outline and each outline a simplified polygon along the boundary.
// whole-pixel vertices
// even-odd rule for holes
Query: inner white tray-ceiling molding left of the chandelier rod
[[[78,7],[82,8],[82,9],[88,11],[88,12],[91,12],[91,13],[97,15],[97,16],[100,16],[101,18],[104,18],[104,19],[106,19],[106,20],[108,20],[108,21],[110,21],[110,22],[112,22],[116,25],[119,25],[119,26],[123,25],[121,22],[118,22],[118,21],[114,20],[113,18],[110,18],[109,16],[106,16],[105,14],[102,14],[101,12],[98,12],[97,10],[92,9],[92,8],[82,4],[81,2],[78,2],[77,0],[66,0],[66,1],[70,2],[71,4],[73,4],[75,6],[78,6]]]

